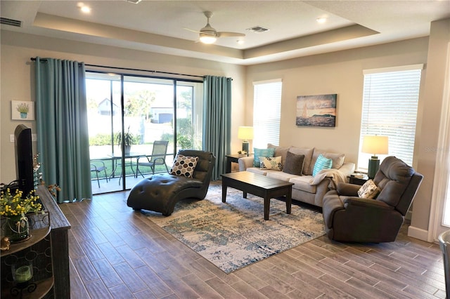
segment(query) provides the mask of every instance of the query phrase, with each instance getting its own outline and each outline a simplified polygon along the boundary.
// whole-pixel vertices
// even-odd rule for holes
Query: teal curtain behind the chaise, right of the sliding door
[[[216,165],[212,180],[226,170],[231,142],[231,78],[205,76],[203,79],[203,150],[213,152]]]

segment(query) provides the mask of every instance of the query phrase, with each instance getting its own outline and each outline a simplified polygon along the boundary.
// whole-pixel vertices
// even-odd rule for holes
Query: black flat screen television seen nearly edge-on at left
[[[14,131],[15,174],[17,187],[26,197],[34,190],[31,128],[20,124]]]

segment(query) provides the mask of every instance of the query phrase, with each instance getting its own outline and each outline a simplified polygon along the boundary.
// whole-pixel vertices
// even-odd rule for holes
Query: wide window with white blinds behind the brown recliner
[[[366,168],[371,156],[361,152],[364,135],[388,136],[388,155],[412,165],[422,68],[409,65],[364,71],[359,168]]]

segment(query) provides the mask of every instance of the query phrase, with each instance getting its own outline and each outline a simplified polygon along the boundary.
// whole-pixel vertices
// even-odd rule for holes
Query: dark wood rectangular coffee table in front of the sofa
[[[238,171],[235,173],[224,173],[222,175],[222,202],[226,202],[226,188],[232,187],[243,191],[243,197],[247,198],[247,193],[254,194],[264,199],[264,220],[269,220],[270,199],[276,197],[286,197],[286,213],[290,214],[292,204],[293,186],[292,182],[267,178],[265,175],[258,175],[248,171]]]

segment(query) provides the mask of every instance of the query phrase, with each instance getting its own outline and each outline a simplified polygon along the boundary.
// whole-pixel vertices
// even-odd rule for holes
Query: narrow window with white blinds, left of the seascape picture
[[[253,147],[279,144],[280,119],[281,79],[253,82]]]

